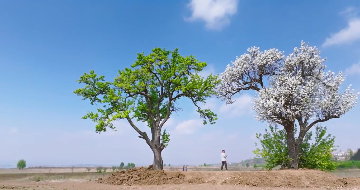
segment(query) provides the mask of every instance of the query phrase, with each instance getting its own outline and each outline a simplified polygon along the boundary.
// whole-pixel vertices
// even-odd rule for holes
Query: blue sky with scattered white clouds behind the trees
[[[248,47],[291,53],[301,40],[318,46],[328,69],[347,75],[344,89],[360,91],[360,2],[261,0],[1,1],[1,164],[26,159],[30,165],[152,163],[152,151],[125,121],[117,132],[95,133],[82,120],[88,101],[72,93],[91,69],[108,80],[154,47],[180,48],[221,73]],[[217,99],[215,125],[201,125],[190,102],[165,125],[170,146],[164,163],[216,163],[253,157],[254,135],[266,124],[255,120],[252,97],[233,105]],[[340,149],[360,148],[357,105],[324,125]],[[147,130],[143,123],[137,125]]]

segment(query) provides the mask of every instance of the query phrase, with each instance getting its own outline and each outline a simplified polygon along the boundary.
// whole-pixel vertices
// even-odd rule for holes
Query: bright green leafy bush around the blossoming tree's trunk
[[[285,129],[279,130],[277,126],[269,126],[270,132],[265,130],[265,134],[256,134],[256,138],[260,140],[261,148],[253,151],[256,157],[262,157],[267,162],[265,168],[272,169],[275,166],[281,168],[291,168],[292,159],[288,154]],[[312,132],[309,131],[303,139],[300,147],[299,168],[320,169],[323,171],[331,171],[337,168],[338,163],[332,160],[332,151],[335,150],[335,136],[326,135],[327,128],[317,125],[315,131],[315,142],[310,144]],[[294,127],[294,134],[297,128]],[[262,137],[262,139],[261,139]]]

